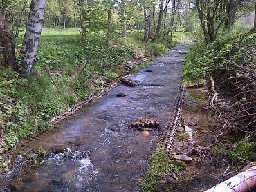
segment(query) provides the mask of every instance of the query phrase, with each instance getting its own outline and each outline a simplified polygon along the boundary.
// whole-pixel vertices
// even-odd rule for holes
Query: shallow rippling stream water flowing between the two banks
[[[134,119],[156,117],[165,127],[179,92],[185,52],[187,46],[177,46],[131,77],[138,86],[114,88],[31,142],[27,148],[42,146],[55,153],[19,176],[6,175],[5,190],[140,191],[158,131],[140,132],[130,125]]]

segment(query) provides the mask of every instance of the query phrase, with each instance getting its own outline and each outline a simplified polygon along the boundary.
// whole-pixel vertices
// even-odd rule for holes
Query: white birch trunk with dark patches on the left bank
[[[21,55],[22,75],[29,75],[33,73],[39,40],[41,38],[41,32],[44,25],[45,7],[46,0],[31,1],[28,23],[23,42],[25,50],[22,51],[23,54]]]

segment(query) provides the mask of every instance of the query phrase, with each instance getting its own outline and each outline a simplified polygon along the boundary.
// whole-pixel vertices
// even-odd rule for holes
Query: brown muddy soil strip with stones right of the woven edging
[[[214,144],[223,125],[207,104],[206,90],[188,90],[173,155],[184,154],[192,157],[193,161],[178,175],[163,177],[157,191],[205,191],[237,173],[237,167],[228,166],[228,162],[214,152]],[[228,140],[230,138],[226,137],[226,143]]]

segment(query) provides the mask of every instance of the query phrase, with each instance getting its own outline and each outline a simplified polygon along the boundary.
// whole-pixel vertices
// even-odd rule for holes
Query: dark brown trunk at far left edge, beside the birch
[[[5,8],[0,8],[0,66],[15,69],[15,37],[5,19]]]

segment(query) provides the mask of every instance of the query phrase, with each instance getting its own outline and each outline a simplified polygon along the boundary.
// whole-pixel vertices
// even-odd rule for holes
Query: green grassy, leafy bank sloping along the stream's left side
[[[0,70],[0,144],[12,148],[44,131],[54,115],[120,76],[125,61],[167,50],[163,44],[145,44],[140,31],[111,40],[89,34],[81,41],[74,29],[44,29],[32,76]]]

